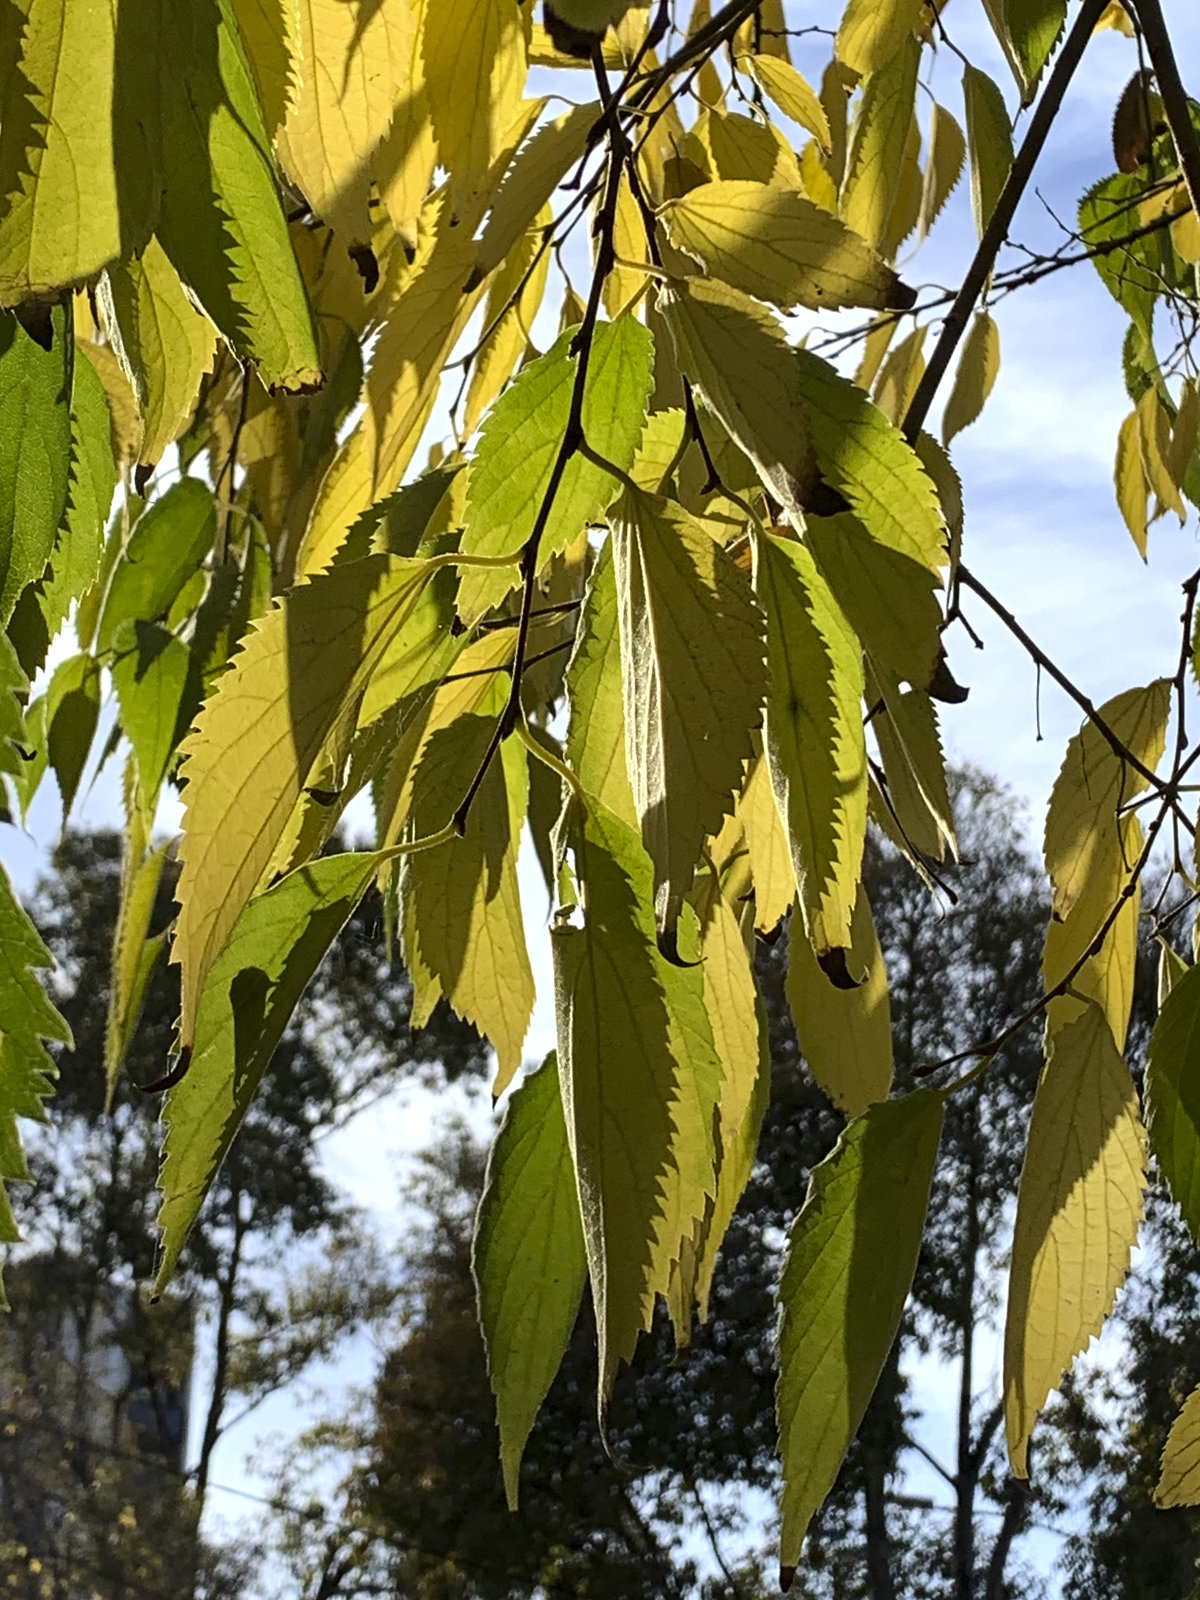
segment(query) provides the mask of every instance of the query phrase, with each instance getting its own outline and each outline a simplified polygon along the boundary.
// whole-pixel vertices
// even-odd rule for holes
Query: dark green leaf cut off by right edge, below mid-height
[[[1150,1035],[1146,1126],[1158,1171],[1200,1238],[1200,968],[1176,978]]]

